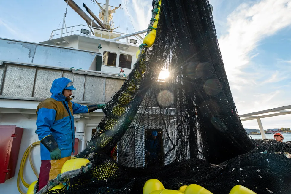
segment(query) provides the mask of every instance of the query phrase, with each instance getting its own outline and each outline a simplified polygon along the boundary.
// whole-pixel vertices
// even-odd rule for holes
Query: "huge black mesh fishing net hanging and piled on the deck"
[[[290,142],[255,141],[244,130],[207,0],[162,0],[154,46],[104,113],[78,155],[93,168],[58,192],[142,193],[146,180],[159,179],[175,190],[195,183],[214,194],[235,185],[290,193]]]

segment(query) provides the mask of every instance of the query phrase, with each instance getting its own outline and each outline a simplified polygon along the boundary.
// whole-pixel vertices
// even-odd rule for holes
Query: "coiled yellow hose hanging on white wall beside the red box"
[[[17,188],[18,188],[19,193],[21,193],[21,194],[26,194],[26,193],[24,193],[24,192],[20,189],[20,184],[19,184],[20,179],[21,179],[21,182],[22,182],[22,184],[24,185],[24,187],[28,188],[29,185],[30,185],[30,184],[28,184],[27,182],[25,182],[25,180],[23,179],[23,169],[24,169],[24,165],[25,165],[25,161],[26,161],[26,159],[27,159],[27,156],[28,156],[28,158],[29,158],[29,163],[30,163],[30,166],[31,166],[31,168],[32,168],[32,170],[33,170],[35,176],[36,176],[37,178],[39,178],[39,175],[37,174],[37,172],[36,172],[36,170],[35,170],[35,168],[34,168],[34,166],[33,166],[32,159],[31,159],[31,148],[33,148],[34,146],[37,146],[37,145],[40,145],[40,141],[34,142],[34,143],[32,144],[32,146],[29,146],[29,147],[25,150],[25,152],[24,152],[24,154],[23,154],[23,157],[22,157],[22,160],[21,160],[21,163],[20,163],[20,169],[19,169],[18,176],[17,176]]]

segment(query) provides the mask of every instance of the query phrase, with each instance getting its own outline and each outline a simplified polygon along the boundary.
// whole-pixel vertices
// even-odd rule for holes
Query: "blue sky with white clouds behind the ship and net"
[[[91,0],[83,2],[99,13]],[[98,1],[105,3],[105,0]],[[151,0],[111,0],[116,31],[148,27]],[[209,0],[227,78],[239,115],[291,104],[291,0]],[[0,1],[0,37],[42,42],[62,26],[63,0]],[[68,7],[66,25],[85,24]],[[243,121],[258,128],[256,120]],[[291,128],[291,114],[262,119],[264,129]]]

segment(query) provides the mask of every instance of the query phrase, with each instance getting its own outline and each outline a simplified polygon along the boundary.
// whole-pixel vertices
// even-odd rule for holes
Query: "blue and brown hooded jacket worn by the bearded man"
[[[67,102],[62,94],[70,79],[62,77],[53,81],[50,93],[51,97],[42,101],[37,106],[37,130],[39,140],[53,135],[61,150],[61,158],[68,157],[74,152],[75,126],[73,114],[88,113],[88,106],[82,106],[74,102]],[[70,88],[73,88],[70,86]],[[73,88],[75,89],[75,88]],[[40,144],[41,160],[51,160],[50,152]]]

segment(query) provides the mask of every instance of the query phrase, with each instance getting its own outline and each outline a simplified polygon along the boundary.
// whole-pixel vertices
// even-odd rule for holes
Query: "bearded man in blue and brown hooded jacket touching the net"
[[[73,82],[65,77],[53,81],[51,97],[37,106],[37,130],[40,140],[41,166],[39,190],[61,172],[63,164],[74,152],[75,127],[73,114],[89,113],[105,104],[82,106],[72,102]]]

